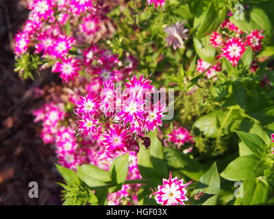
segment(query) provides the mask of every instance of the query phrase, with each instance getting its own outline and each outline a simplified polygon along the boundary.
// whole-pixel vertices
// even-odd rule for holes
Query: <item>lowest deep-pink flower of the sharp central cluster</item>
[[[127,141],[129,139],[129,136],[127,134],[127,129],[124,129],[123,127],[119,127],[119,125],[115,125],[114,129],[110,127],[109,130],[107,130],[107,133],[103,135],[105,140],[103,140],[103,143],[107,147],[107,151],[124,151],[127,148]]]

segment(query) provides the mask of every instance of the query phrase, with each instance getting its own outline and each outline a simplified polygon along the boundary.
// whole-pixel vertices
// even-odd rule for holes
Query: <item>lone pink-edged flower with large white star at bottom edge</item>
[[[151,195],[155,195],[155,200],[160,205],[186,205],[184,201],[188,201],[186,197],[186,186],[192,181],[184,184],[183,179],[177,177],[172,178],[171,172],[169,179],[162,180],[163,185],[158,185],[158,188]]]

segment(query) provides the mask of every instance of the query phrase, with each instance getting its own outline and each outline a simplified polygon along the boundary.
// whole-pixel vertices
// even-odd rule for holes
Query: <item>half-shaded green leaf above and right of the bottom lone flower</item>
[[[208,170],[208,166],[190,159],[182,152],[171,148],[164,148],[167,164],[174,170],[178,170],[182,175],[198,181],[201,176]]]

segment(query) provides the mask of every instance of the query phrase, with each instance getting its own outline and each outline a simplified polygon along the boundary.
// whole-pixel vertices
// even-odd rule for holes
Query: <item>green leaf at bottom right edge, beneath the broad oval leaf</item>
[[[269,183],[263,178],[243,182],[243,198],[236,198],[234,205],[263,205],[269,194]]]

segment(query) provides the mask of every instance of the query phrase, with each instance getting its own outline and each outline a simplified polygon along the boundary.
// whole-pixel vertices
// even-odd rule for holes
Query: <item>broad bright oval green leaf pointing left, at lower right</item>
[[[230,181],[242,181],[259,177],[263,174],[264,165],[255,155],[238,157],[221,173],[221,177]]]

